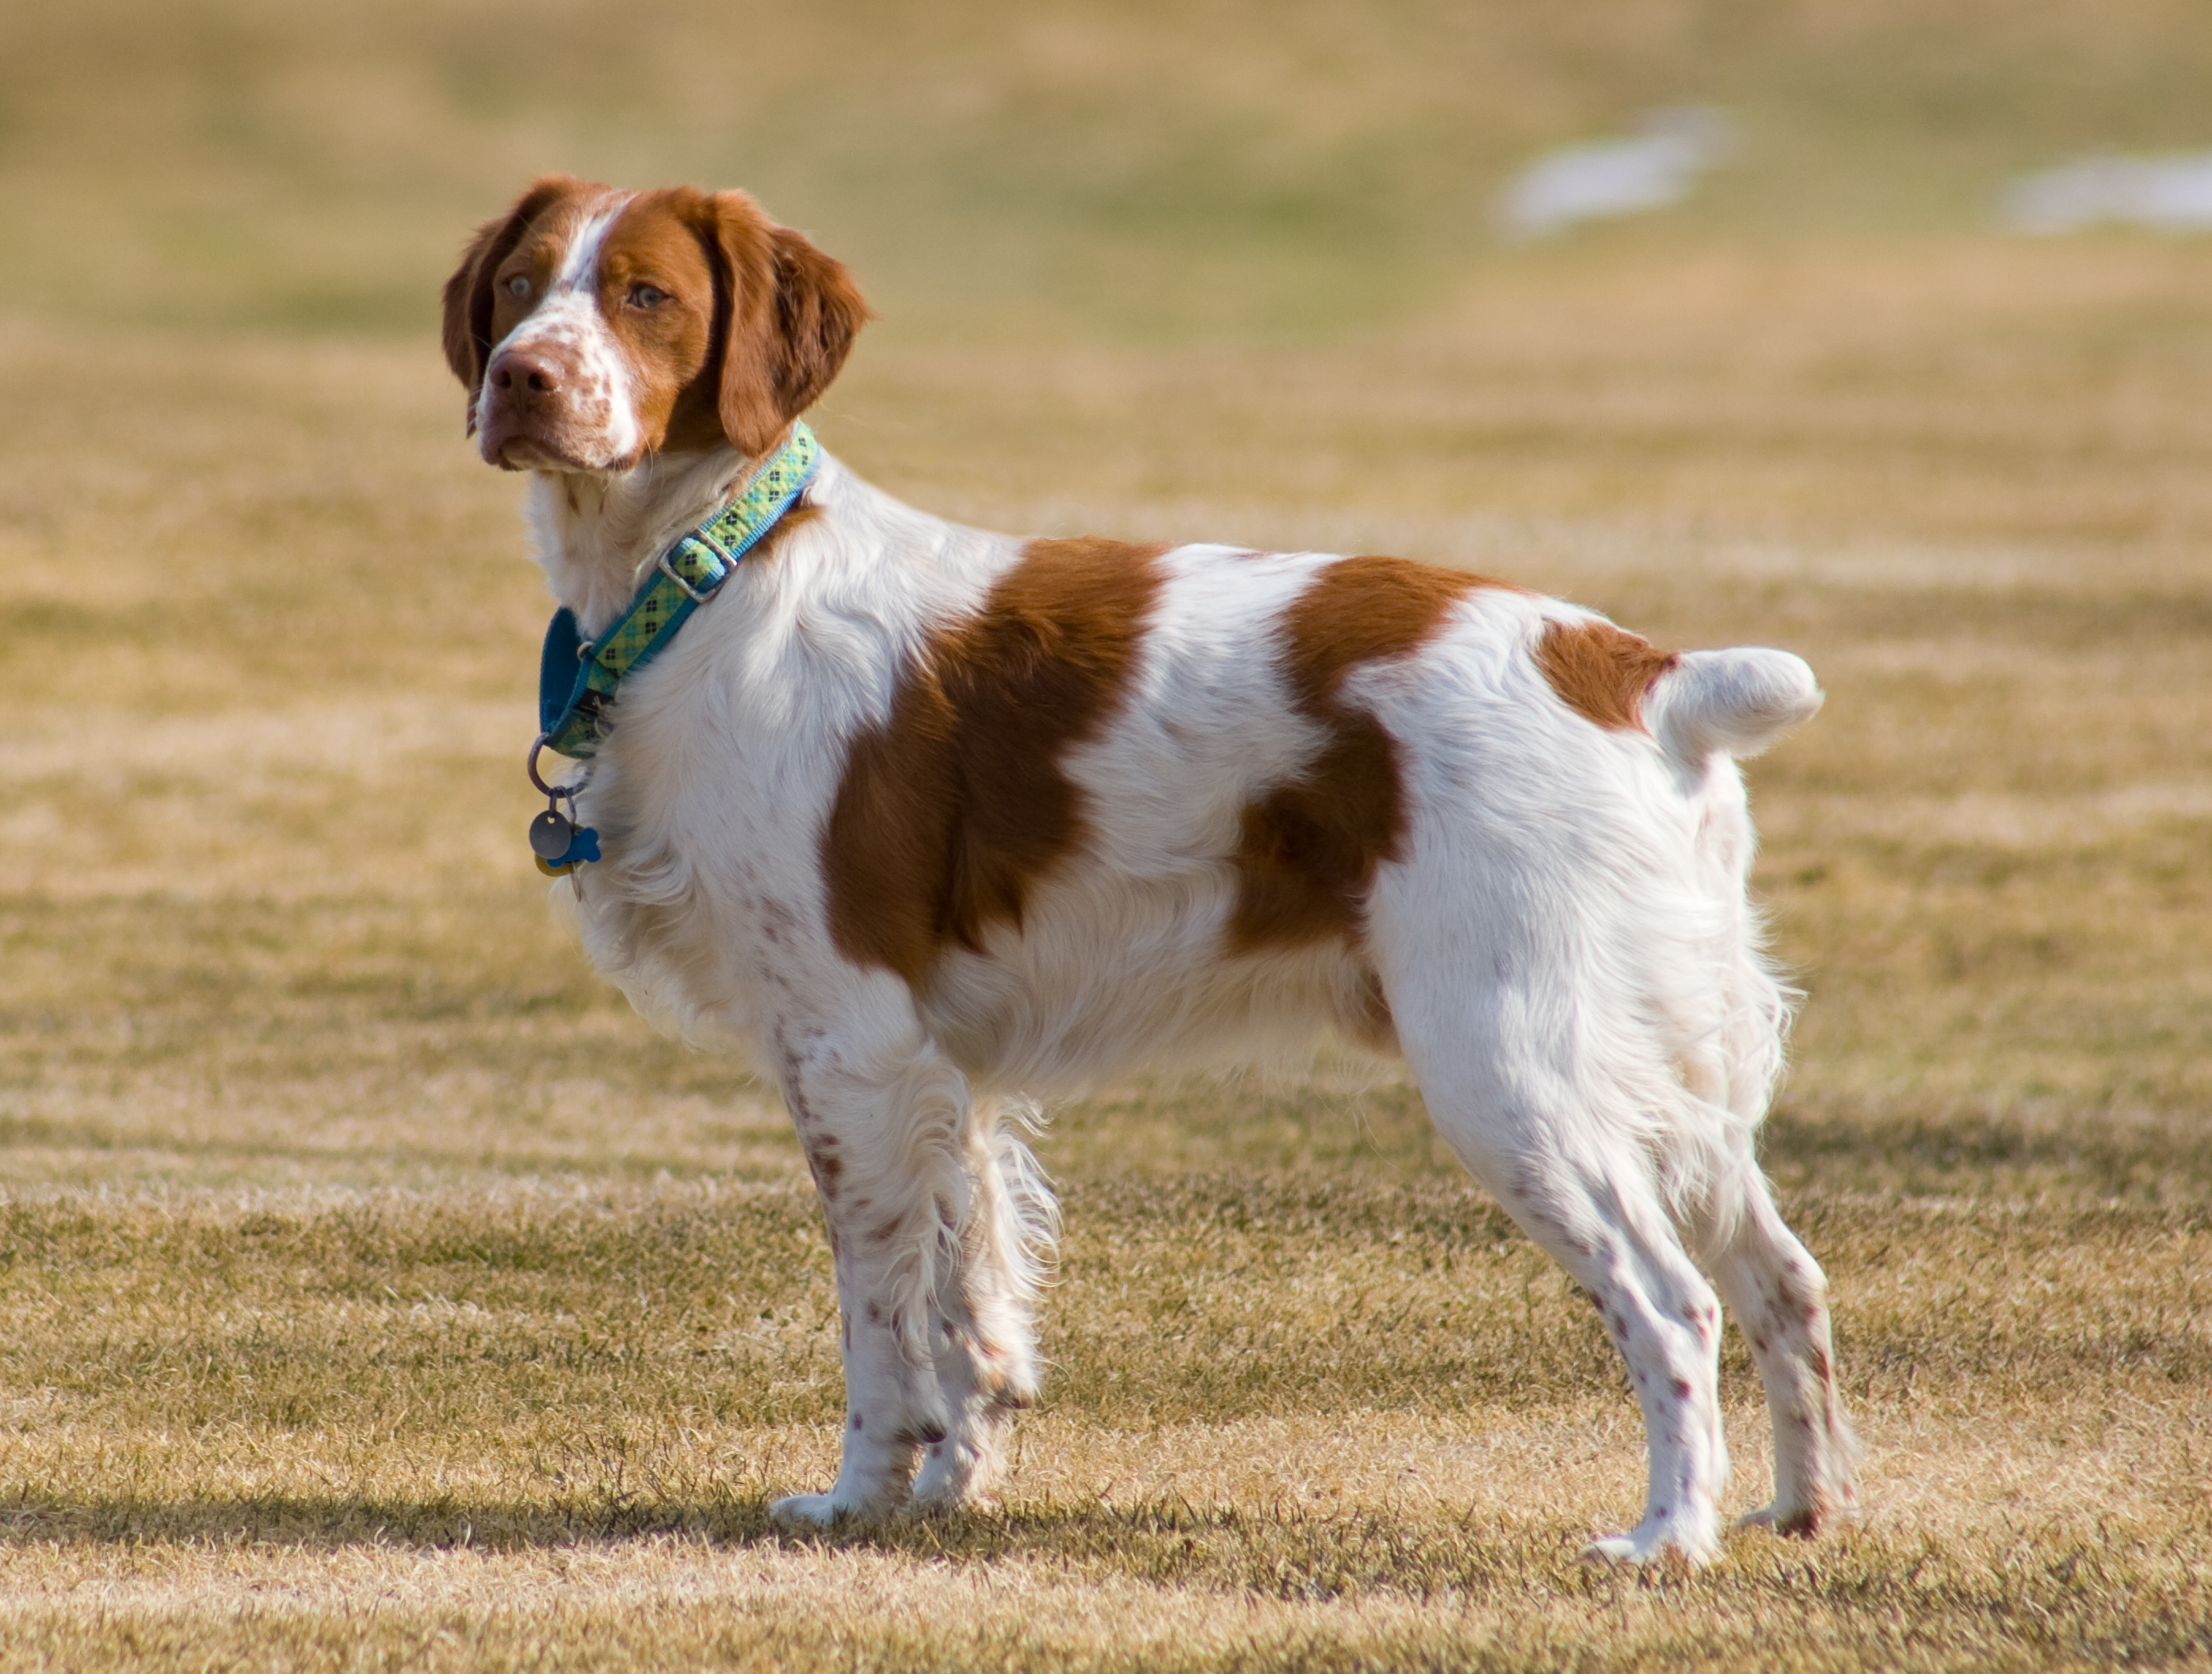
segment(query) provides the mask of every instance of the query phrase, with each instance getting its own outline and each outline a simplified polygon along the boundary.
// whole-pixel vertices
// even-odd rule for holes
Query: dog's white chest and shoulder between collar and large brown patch
[[[757,1050],[860,975],[827,931],[823,834],[854,736],[945,608],[854,575],[823,522],[624,683],[580,803],[604,851],[575,891],[586,951],[648,1017]]]

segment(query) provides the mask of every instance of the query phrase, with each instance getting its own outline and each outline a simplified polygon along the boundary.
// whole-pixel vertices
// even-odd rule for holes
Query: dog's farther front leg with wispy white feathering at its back
[[[953,1283],[938,1298],[938,1387],[949,1426],[914,1482],[920,1508],[982,1504],[1004,1475],[1015,1411],[1037,1400],[1033,1302],[1060,1212],[1035,1157],[991,1099],[967,1132],[973,1181]]]

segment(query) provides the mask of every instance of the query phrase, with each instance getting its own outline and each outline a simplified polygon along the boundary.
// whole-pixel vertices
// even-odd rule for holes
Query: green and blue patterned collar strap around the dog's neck
[[[659,555],[628,610],[606,632],[586,641],[568,606],[553,613],[538,663],[538,728],[546,750],[577,761],[599,754],[615,723],[615,690],[624,677],[668,650],[686,617],[714,597],[737,562],[790,511],[818,462],[814,431],[805,420],[792,425],[790,440],[728,506]]]

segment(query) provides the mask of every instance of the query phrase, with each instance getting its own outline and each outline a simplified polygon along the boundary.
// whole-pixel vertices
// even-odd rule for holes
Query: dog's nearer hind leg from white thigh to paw
[[[1721,1307],[1659,1188],[1655,1145],[1677,1141],[1646,1112],[1679,1090],[1672,1053],[1648,1050],[1650,1019],[1593,980],[1610,931],[1577,916],[1542,845],[1475,845],[1455,827],[1420,843],[1402,871],[1378,873],[1369,902],[1398,1039],[1438,1132],[1595,1300],[1644,1411],[1644,1515],[1588,1557],[1641,1563],[1672,1548],[1703,1563],[1728,1482]],[[1564,893],[1528,893],[1528,880]]]

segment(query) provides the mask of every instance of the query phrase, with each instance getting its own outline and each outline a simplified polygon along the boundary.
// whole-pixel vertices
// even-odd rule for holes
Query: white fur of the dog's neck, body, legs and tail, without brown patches
[[[741,469],[721,451],[535,480],[538,557],[586,635]],[[1285,690],[1283,613],[1336,559],[1177,548],[1124,701],[1062,763],[1088,803],[1084,851],[1040,880],[1020,929],[987,927],[914,993],[838,951],[823,829],[854,734],[887,719],[929,635],[1022,548],[834,458],[807,502],[814,515],[624,686],[580,803],[606,858],[555,887],[641,1013],[779,1077],[823,1185],[845,1459],[781,1515],[969,1504],[1002,1468],[1009,1409],[1037,1387],[1031,1302],[1055,1234],[1004,1112],[1327,1026],[1402,1046],[1440,1132],[1606,1318],[1644,1406],[1650,1490],[1595,1552],[1717,1546],[1714,1285],[1774,1413],[1776,1493],[1756,1517],[1849,1510],[1825,1280],[1752,1154],[1790,1004],[1756,949],[1728,754],[1812,712],[1798,659],[1683,657],[1648,697],[1650,732],[1604,730],[1535,657],[1546,624],[1590,617],[1471,590],[1416,652],[1343,688],[1394,739],[1409,812],[1365,946],[1232,958],[1239,809],[1321,743]],[[1396,1042],[1371,1033],[1376,986]]]

